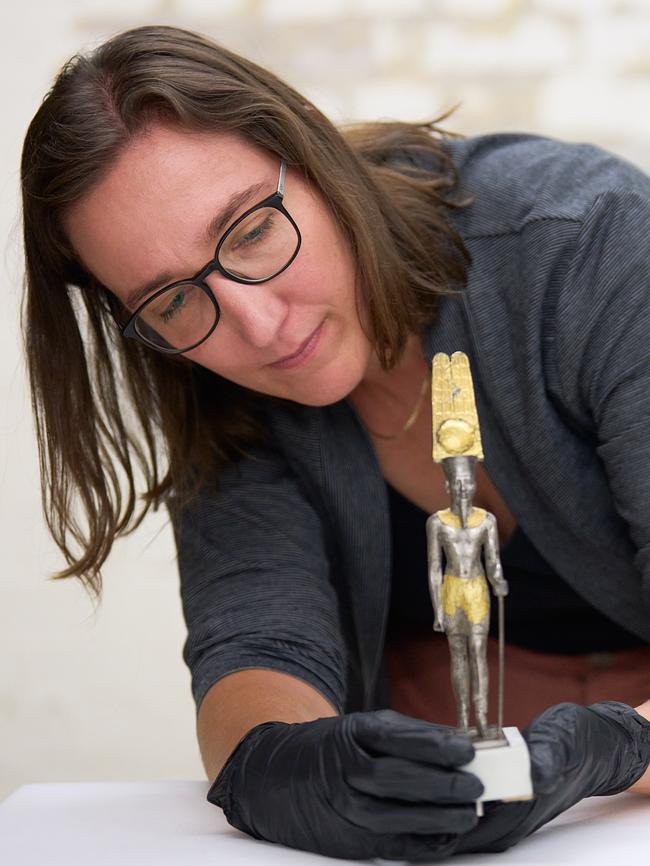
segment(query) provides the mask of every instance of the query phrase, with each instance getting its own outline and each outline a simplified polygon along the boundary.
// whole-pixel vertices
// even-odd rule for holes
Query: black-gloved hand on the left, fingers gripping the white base
[[[476,825],[479,780],[457,770],[469,740],[393,710],[265,722],[208,792],[257,839],[331,857],[436,860]]]

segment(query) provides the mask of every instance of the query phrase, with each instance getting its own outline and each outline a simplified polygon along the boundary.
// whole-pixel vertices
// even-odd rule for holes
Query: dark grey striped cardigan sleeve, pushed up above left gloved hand
[[[309,683],[342,713],[345,644],[322,521],[285,459],[255,449],[218,492],[169,510],[197,711],[221,677],[268,668]]]

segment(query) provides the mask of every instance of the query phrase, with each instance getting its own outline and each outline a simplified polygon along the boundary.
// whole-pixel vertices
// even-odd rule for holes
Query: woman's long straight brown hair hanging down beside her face
[[[75,258],[65,210],[153,121],[237,132],[322,194],[351,244],[368,336],[387,370],[465,278],[468,257],[444,215],[462,203],[449,195],[457,178],[440,119],[338,129],[270,72],[171,27],[129,30],[64,66],[22,156],[23,331],[42,503],[68,564],[53,577],[78,576],[99,598],[116,537],[167,495],[216,483],[265,435],[261,395],[122,339],[119,302]]]

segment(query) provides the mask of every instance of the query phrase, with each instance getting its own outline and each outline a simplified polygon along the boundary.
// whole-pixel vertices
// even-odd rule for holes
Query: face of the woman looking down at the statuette
[[[64,227],[84,266],[134,309],[127,298],[138,287],[150,285],[151,294],[203,267],[214,256],[206,229],[217,212],[234,194],[261,184],[230,225],[275,192],[279,171],[275,155],[235,135],[154,126],[70,209]],[[212,273],[206,282],[221,319],[186,356],[255,391],[327,405],[346,397],[376,357],[356,310],[348,244],[324,202],[291,168],[284,205],[302,236],[297,257],[259,285]],[[295,353],[317,329],[300,363],[270,366]]]

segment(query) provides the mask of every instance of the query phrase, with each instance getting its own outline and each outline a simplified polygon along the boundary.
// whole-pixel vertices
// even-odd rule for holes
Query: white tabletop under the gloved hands
[[[349,863],[251,839],[208,803],[207,782],[24,785],[0,803],[7,866],[315,866]],[[648,862],[650,797],[619,794],[574,806],[504,854],[499,866]],[[497,858],[454,857],[452,866]],[[378,862],[378,861],[375,861]],[[388,862],[388,861],[386,861]],[[394,863],[395,861],[391,861]]]

